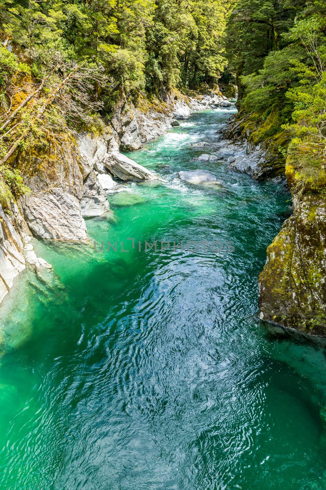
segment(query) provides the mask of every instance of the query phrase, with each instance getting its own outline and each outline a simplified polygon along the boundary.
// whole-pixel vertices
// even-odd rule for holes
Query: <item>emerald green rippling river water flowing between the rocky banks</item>
[[[226,118],[195,114],[132,154],[165,181],[130,184],[114,220],[87,221],[98,246],[134,238],[129,253],[35,244],[62,286],[22,275],[0,309],[1,489],[326,488],[324,350],[255,319],[289,196],[191,161]],[[222,187],[177,178],[197,168]]]

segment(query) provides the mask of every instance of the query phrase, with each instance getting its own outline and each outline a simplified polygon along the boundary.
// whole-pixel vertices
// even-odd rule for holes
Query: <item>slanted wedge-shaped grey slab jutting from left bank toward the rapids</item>
[[[112,152],[108,154],[104,160],[104,165],[114,177],[121,180],[134,182],[159,180],[152,172],[122,153]]]

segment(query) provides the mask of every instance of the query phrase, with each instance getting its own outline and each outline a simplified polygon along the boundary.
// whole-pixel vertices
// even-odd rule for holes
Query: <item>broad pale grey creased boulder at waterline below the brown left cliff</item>
[[[75,196],[50,189],[25,196],[24,215],[34,236],[44,240],[87,242],[86,224]]]

